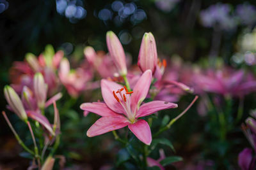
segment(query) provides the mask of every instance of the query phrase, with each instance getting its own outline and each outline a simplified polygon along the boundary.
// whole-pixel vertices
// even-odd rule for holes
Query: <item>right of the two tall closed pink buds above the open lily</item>
[[[152,73],[156,70],[157,66],[157,50],[156,41],[151,32],[146,32],[143,36],[140,45],[140,53],[138,57],[138,66],[141,71],[150,69]]]

